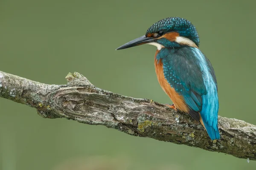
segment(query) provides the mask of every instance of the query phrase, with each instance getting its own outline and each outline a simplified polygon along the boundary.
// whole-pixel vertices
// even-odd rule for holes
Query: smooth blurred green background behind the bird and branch
[[[171,103],[151,45],[115,51],[166,17],[196,26],[218,79],[219,115],[256,124],[253,1],[0,0],[0,70],[48,84],[77,71],[114,93]],[[255,170],[223,153],[129,136],[103,126],[43,119],[0,98],[2,170]]]

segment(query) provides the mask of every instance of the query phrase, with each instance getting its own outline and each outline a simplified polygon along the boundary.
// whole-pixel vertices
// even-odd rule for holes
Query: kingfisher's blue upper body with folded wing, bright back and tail
[[[219,139],[218,94],[214,70],[198,48],[163,48],[157,60],[163,62],[166,80],[184,97],[189,109],[200,112],[212,140]]]

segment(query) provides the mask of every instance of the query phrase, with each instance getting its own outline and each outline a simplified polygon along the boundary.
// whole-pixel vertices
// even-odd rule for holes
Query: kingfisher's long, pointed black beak
[[[116,50],[122,50],[122,49],[125,49],[125,48],[135,47],[135,46],[143,45],[143,44],[146,44],[146,43],[149,43],[149,42],[154,42],[154,38],[146,37],[145,35],[143,35],[139,38],[136,38],[135,40],[127,42],[126,44],[116,48]]]

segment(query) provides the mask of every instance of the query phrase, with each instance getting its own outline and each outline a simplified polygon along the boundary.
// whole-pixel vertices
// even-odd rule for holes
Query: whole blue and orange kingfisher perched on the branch
[[[173,102],[169,107],[201,122],[210,139],[215,140],[220,139],[217,79],[199,42],[198,31],[189,20],[168,17],[116,50],[143,44],[156,46],[155,71],[160,86]]]

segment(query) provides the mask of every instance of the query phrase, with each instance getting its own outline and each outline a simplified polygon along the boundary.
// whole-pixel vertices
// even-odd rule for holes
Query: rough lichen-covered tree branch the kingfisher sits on
[[[148,99],[96,88],[79,73],[67,85],[47,85],[0,71],[0,97],[36,108],[44,118],[104,125],[133,136],[200,147],[256,160],[256,126],[218,116],[220,140],[211,141],[200,123]]]

